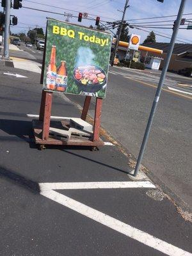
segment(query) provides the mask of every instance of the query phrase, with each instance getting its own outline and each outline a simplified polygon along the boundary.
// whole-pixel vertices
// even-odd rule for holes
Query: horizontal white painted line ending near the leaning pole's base
[[[156,188],[147,181],[109,181],[109,182],[51,182],[39,183],[40,190],[50,189],[111,189],[111,188]]]

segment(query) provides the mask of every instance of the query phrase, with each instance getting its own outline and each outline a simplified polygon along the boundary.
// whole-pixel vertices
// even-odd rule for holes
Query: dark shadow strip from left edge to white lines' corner
[[[26,177],[15,173],[11,170],[7,170],[6,168],[0,166],[0,177],[8,180],[9,182],[12,182],[13,184],[17,184],[21,186],[22,188],[29,189],[33,193],[40,193],[40,187],[38,182],[35,182],[33,180],[29,180]]]

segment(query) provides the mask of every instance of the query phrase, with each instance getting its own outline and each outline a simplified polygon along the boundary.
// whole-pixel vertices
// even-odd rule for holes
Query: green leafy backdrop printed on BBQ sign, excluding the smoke
[[[44,84],[46,80],[47,67],[51,56],[52,45],[56,45],[56,67],[60,67],[61,60],[66,61],[68,81],[67,81],[67,93],[79,94],[81,90],[76,85],[73,74],[74,68],[77,65],[77,51],[79,47],[88,47],[94,54],[93,63],[90,65],[97,65],[102,68],[106,74],[108,74],[109,54],[111,51],[111,35],[108,33],[101,33],[100,31],[93,31],[92,29],[83,28],[81,26],[74,26],[68,23],[58,22],[56,20],[48,20],[47,27],[47,44],[45,55],[45,71],[44,71]],[[56,35],[52,33],[52,26],[59,26],[66,29],[74,30],[74,38]],[[109,39],[109,44],[101,46],[85,40],[79,40],[78,32],[83,32],[88,36],[95,35],[98,38]],[[97,92],[98,97],[105,97],[106,90],[100,90]]]

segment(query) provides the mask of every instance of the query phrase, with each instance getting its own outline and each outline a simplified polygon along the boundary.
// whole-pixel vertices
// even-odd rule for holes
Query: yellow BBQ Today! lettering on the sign
[[[70,38],[75,38],[76,37],[76,33],[74,30],[72,29],[66,29],[66,28],[62,28],[59,26],[52,26],[52,33],[56,34],[56,35],[61,35],[61,36],[68,36]],[[100,46],[104,46],[104,45],[108,45],[109,44],[109,39],[106,38],[99,38],[96,37],[95,35],[93,36],[88,36],[86,35],[84,32],[78,32],[79,40],[84,40],[86,42],[91,42],[94,44],[99,44]]]

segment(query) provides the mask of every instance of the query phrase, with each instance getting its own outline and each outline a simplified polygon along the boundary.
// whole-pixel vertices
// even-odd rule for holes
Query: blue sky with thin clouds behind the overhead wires
[[[0,0],[1,1],[1,0]],[[166,20],[175,20],[176,17],[164,17],[161,19],[147,19],[147,20],[132,20],[132,19],[143,19],[150,17],[162,17],[169,15],[176,15],[181,0],[164,0],[164,3],[160,3],[157,0],[129,0],[129,8],[125,13],[125,20],[129,20],[129,24],[137,23],[135,26],[157,26],[158,23],[151,24],[138,24],[141,22],[154,22],[154,21],[166,21]],[[34,3],[36,2],[36,3]],[[39,3],[39,4],[37,4]],[[51,6],[56,6],[57,8],[51,6],[44,6],[42,4],[48,4]],[[100,17],[100,20],[105,22],[113,22],[115,20],[120,20],[122,18],[122,10],[124,10],[125,0],[23,0],[22,6],[29,8],[37,8],[40,10],[47,10],[49,12],[56,12],[61,14],[54,13],[45,13],[38,12],[36,10],[29,10],[27,8],[20,8],[19,10],[11,9],[11,14],[18,17],[18,25],[12,26],[12,33],[27,33],[29,29],[33,29],[36,26],[38,28],[42,27],[45,30],[46,26],[46,17],[51,17],[58,20],[65,20],[67,16],[64,16],[65,13],[70,13],[70,15],[78,16],[79,12],[88,13],[90,17],[95,18],[96,16]],[[68,9],[68,10],[65,10]],[[186,0],[186,6],[184,13],[191,13],[190,15],[184,15],[183,17],[191,20],[192,22],[192,0]],[[70,17],[69,21],[75,24],[80,24],[83,26],[95,26],[95,21],[85,20],[82,22],[77,22],[77,17]],[[172,27],[172,22],[163,22],[162,24],[170,24]],[[188,24],[188,23],[187,23]],[[192,23],[191,23],[192,24]],[[158,26],[157,26],[158,27]],[[180,28],[186,28],[186,26],[180,26]],[[141,29],[147,30],[143,31]],[[129,33],[136,33],[141,35],[141,42],[145,40],[148,35],[148,31],[154,30],[155,33],[161,33],[163,36],[168,38],[156,35],[156,42],[170,42],[170,36],[172,35],[172,29],[159,29],[159,28],[141,28],[131,29],[129,28]],[[114,31],[115,32],[115,31]],[[160,34],[159,33],[159,34]],[[164,34],[163,34],[164,33]],[[180,29],[177,36],[177,43],[192,43],[192,30]],[[181,42],[180,42],[180,41]]]

